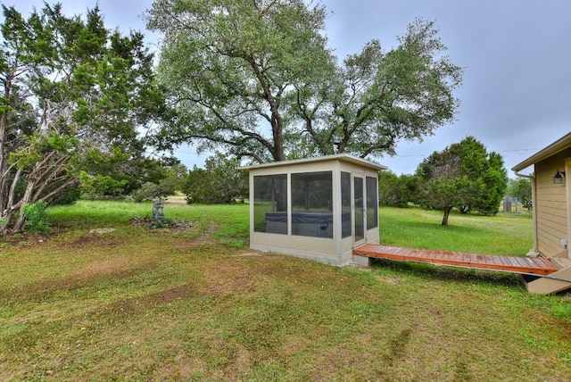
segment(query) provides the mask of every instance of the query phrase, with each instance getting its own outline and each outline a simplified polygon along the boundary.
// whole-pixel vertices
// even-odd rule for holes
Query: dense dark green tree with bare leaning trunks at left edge
[[[164,112],[143,35],[105,29],[45,4],[28,19],[2,6],[0,234],[23,227],[27,204],[53,203],[79,179],[112,193],[153,176],[148,129]]]

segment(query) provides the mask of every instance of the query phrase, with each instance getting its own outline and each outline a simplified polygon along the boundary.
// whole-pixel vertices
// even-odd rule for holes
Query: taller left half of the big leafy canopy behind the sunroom
[[[316,83],[334,61],[319,33],[324,20],[322,6],[301,0],[154,2],[148,26],[164,35],[159,78],[178,109],[163,136],[284,160],[294,84]]]

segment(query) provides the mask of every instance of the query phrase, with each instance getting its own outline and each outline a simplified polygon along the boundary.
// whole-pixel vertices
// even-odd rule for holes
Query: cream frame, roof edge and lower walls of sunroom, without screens
[[[353,189],[355,179],[374,179],[375,197],[371,203],[376,204],[378,213],[378,171],[385,170],[385,166],[374,162],[368,162],[360,158],[347,154],[336,154],[322,156],[312,159],[302,159],[295,161],[265,163],[257,166],[248,166],[244,169],[250,171],[250,247],[263,252],[290,254],[305,259],[325,262],[336,266],[344,266],[352,263],[352,249],[356,245],[364,243],[378,243],[379,227],[378,216],[375,215],[377,221],[371,224],[369,228],[367,223],[363,227],[367,227],[365,232],[361,233],[362,237],[356,238],[355,229],[355,192]],[[292,178],[295,175],[310,175],[311,173],[331,172],[332,176],[332,206],[331,214],[333,217],[332,233],[327,237],[315,237],[311,235],[295,234],[293,227],[293,217],[296,212],[293,211],[292,203]],[[342,174],[350,174],[351,176],[351,226],[352,232],[348,237],[343,237],[343,212],[342,212]],[[287,179],[287,220],[286,228],[278,230],[264,230],[254,226],[255,209],[255,193],[254,183],[257,177],[270,177],[274,175],[285,176]],[[365,186],[365,185],[364,185]],[[367,206],[367,203],[365,203]],[[366,209],[366,208],[365,208]],[[282,212],[285,213],[285,212]],[[365,212],[366,216],[366,212]],[[266,215],[268,217],[268,214]],[[268,220],[266,220],[268,221]],[[279,223],[282,223],[281,221]],[[268,226],[266,226],[268,227]],[[277,232],[279,231],[279,232]]]

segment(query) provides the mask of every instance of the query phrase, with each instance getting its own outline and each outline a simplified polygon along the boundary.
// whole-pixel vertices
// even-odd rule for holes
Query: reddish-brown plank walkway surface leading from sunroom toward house
[[[554,262],[544,258],[433,251],[388,245],[361,245],[353,249],[353,254],[398,262],[425,262],[434,265],[499,270],[538,276],[547,276],[561,269]]]

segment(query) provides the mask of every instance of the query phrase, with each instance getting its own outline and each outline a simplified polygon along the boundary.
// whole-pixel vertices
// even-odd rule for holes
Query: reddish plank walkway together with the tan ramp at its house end
[[[397,262],[424,262],[433,265],[517,273],[529,276],[528,279],[531,281],[525,282],[525,286],[530,292],[538,294],[556,293],[571,287],[571,268],[542,257],[434,251],[378,244],[360,245],[353,249],[353,254]]]

